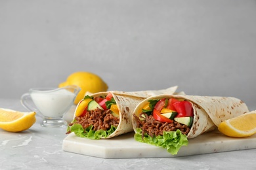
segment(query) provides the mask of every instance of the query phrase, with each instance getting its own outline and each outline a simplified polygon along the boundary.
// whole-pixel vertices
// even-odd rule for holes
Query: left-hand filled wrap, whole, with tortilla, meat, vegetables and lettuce
[[[135,107],[150,96],[175,93],[177,86],[164,90],[139,92],[99,92],[79,101],[68,133],[89,139],[109,139],[133,131],[132,114]]]

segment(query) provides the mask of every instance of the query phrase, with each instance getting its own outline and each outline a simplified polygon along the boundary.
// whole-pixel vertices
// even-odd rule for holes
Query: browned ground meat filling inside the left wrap
[[[90,110],[85,113],[85,116],[75,117],[75,122],[70,123],[69,126],[73,124],[81,124],[83,128],[87,128],[89,126],[93,126],[93,130],[102,129],[104,131],[110,129],[111,126],[117,127],[119,124],[119,117],[115,117],[112,115],[112,111],[95,109]],[[70,133],[70,132],[68,132]]]

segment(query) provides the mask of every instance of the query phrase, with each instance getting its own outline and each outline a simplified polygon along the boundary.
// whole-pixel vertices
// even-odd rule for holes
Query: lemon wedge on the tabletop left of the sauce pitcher
[[[18,112],[0,108],[0,128],[6,131],[24,131],[29,129],[35,120],[35,112]]]

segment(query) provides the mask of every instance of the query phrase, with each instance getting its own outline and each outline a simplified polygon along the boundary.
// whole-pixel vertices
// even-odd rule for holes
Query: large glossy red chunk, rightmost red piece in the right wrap
[[[192,103],[189,101],[179,101],[176,103],[173,103],[173,106],[177,110],[177,118],[179,117],[186,117],[186,116],[194,116]]]

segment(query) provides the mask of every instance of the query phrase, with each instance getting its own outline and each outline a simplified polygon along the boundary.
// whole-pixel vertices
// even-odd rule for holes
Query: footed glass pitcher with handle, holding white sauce
[[[63,116],[72,107],[80,90],[78,86],[31,88],[20,101],[26,109],[37,112],[43,118],[41,126],[62,127],[67,124]]]

